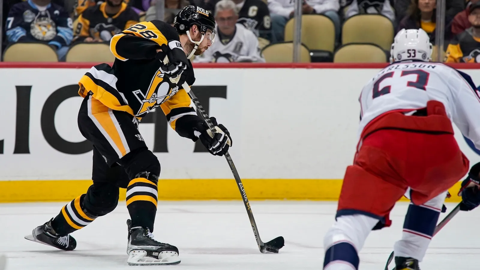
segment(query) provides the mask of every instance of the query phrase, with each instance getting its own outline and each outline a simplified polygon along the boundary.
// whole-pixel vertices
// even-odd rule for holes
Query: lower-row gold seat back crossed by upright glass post
[[[293,43],[280,42],[270,44],[262,50],[267,63],[291,63],[293,62]],[[302,44],[300,47],[300,62],[310,63],[310,51]]]

